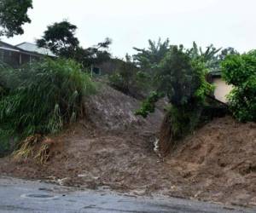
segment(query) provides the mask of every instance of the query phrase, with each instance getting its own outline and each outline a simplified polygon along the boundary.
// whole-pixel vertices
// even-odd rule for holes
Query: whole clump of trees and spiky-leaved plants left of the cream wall
[[[148,43],[148,49],[135,48],[137,55],[133,55],[133,60],[126,57],[124,65],[109,78],[115,89],[127,95],[137,97],[134,95],[137,89],[137,94],[146,96],[137,115],[146,118],[154,112],[155,102],[166,96],[170,102],[167,112],[172,126],[170,135],[176,140],[225,112],[224,106],[209,98],[213,86],[207,82],[207,74],[219,71],[221,61],[237,54],[235,49],[221,50],[210,45],[203,51],[196,43],[191,49],[184,49],[182,45],[170,45],[168,39],[163,43],[160,40]],[[137,73],[143,78],[137,80]],[[138,82],[143,82],[144,87],[137,87]]]

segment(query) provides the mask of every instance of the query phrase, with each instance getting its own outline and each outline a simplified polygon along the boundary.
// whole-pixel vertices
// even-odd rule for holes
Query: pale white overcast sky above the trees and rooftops
[[[33,0],[32,23],[25,34],[6,42],[34,42],[46,26],[69,20],[78,26],[84,47],[113,39],[113,56],[132,54],[132,47],[148,46],[148,38],[170,38],[190,47],[256,49],[256,0]]]

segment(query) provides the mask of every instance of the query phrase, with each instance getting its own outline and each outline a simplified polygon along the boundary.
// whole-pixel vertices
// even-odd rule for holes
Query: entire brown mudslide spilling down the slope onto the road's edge
[[[0,159],[0,174],[135,195],[256,205],[256,124],[216,118],[160,158],[154,141],[162,107],[150,118],[137,118],[133,112],[139,102],[108,87],[85,103],[86,119],[50,137],[45,164],[10,156]]]

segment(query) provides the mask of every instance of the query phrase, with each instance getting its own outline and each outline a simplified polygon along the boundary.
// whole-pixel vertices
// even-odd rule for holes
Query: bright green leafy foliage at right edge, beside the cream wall
[[[224,80],[233,85],[228,100],[239,121],[256,121],[256,51],[228,55],[222,62]]]

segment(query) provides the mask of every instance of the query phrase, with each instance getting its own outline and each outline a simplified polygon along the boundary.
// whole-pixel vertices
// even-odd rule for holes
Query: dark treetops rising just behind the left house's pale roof
[[[110,59],[108,47],[112,43],[110,38],[106,38],[102,43],[84,49],[79,46],[79,39],[75,37],[77,26],[67,20],[54,23],[47,27],[44,36],[37,40],[38,47],[50,49],[55,55],[73,59],[89,68],[92,65],[101,64]]]

